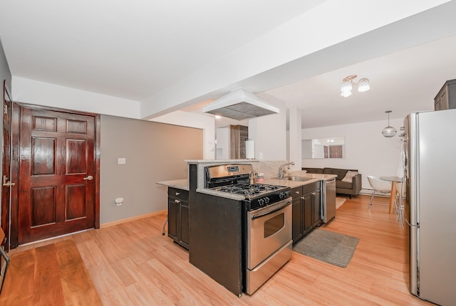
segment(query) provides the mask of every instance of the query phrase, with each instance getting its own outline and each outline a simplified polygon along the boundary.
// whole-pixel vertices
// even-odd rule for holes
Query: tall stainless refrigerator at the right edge
[[[456,305],[456,110],[405,117],[410,292]]]

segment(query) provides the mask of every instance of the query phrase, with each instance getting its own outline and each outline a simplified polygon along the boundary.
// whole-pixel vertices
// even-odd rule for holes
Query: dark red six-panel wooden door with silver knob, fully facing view
[[[95,117],[20,108],[19,244],[95,227]]]

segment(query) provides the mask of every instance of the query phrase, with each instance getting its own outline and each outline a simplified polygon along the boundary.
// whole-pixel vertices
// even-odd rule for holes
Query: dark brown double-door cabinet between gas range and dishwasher
[[[290,191],[293,198],[292,237],[294,243],[322,223],[320,184],[320,181],[316,181]]]

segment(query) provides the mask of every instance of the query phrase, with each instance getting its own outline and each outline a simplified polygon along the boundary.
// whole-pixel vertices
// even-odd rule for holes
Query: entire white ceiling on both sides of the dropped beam
[[[380,10],[374,2],[371,11]],[[275,68],[259,69],[261,73],[249,78],[239,68],[239,78],[230,75],[234,82],[220,81],[212,95],[192,88],[191,95],[176,96],[179,104],[177,108],[170,105],[169,110],[200,112],[209,97],[236,86],[252,90],[265,100],[301,109],[304,128],[386,120],[385,110],[393,110],[391,118],[432,110],[432,100],[442,84],[456,78],[456,4],[434,0],[431,2],[435,5],[447,4],[432,11],[425,8],[429,1],[404,2],[420,3],[423,9],[417,8],[418,13],[424,12],[396,22],[392,12],[387,26],[326,46],[321,44],[318,52],[282,60],[274,64]],[[148,106],[146,103],[160,100],[153,97],[178,88],[221,58],[237,56],[252,41],[271,37],[280,26],[338,3],[85,0],[68,4],[43,0],[26,1],[25,5],[24,1],[1,1],[0,39],[14,77],[122,97]],[[329,28],[344,33],[340,23],[329,23]],[[308,29],[307,34],[312,37],[312,31],[318,30]],[[320,40],[314,37],[316,44]],[[279,47],[274,52],[280,52]],[[259,64],[252,54],[251,62],[252,66]],[[228,68],[232,67],[227,71],[219,68],[217,75],[207,78],[228,75]],[[352,74],[371,80],[371,90],[343,98],[341,81]],[[238,123],[222,120],[217,125],[227,122]]]

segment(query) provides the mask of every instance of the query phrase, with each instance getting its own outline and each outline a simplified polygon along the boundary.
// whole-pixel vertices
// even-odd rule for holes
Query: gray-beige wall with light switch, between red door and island
[[[156,182],[187,179],[183,161],[203,157],[203,131],[190,127],[101,115],[100,139],[102,225],[167,209],[167,188]]]

